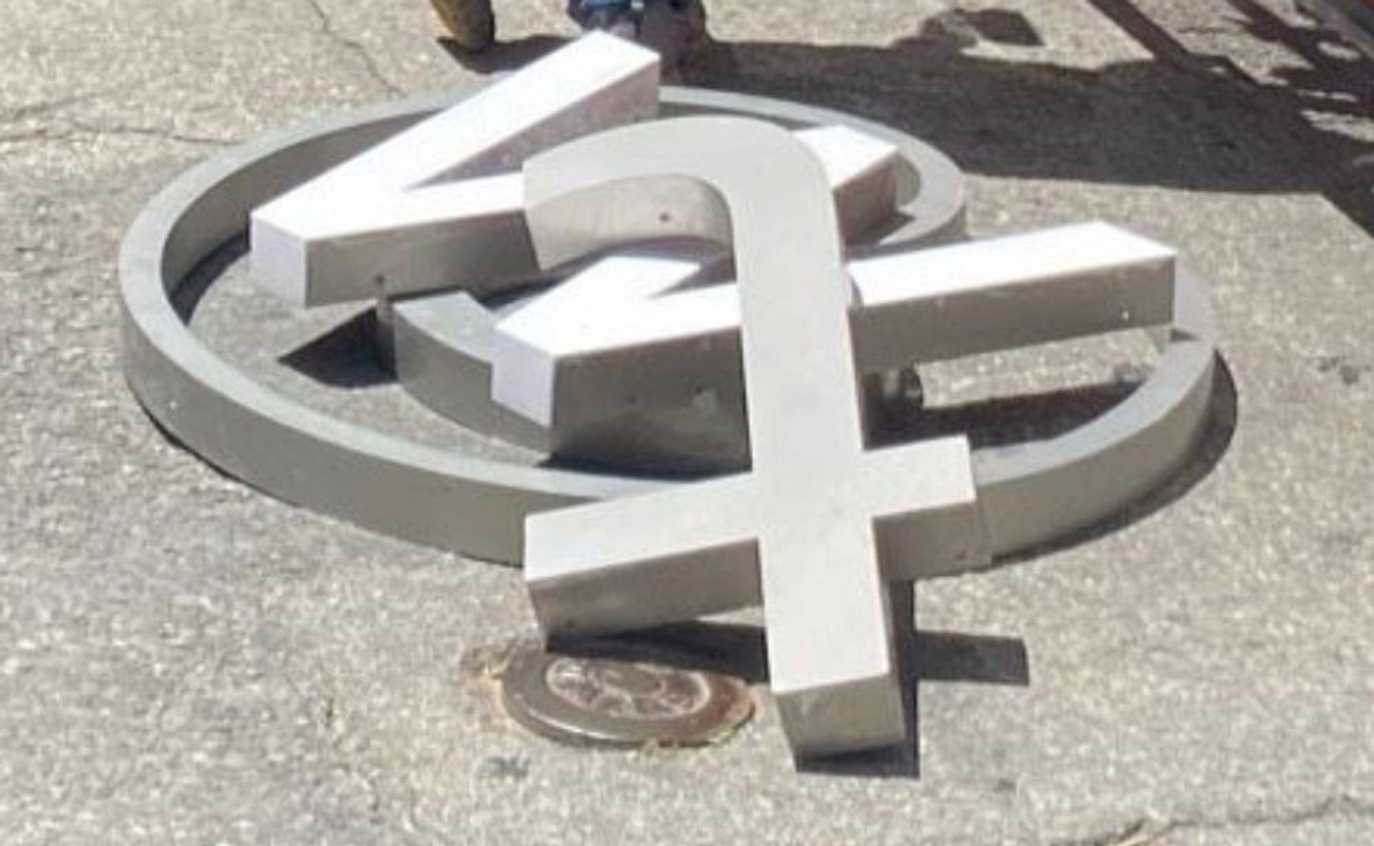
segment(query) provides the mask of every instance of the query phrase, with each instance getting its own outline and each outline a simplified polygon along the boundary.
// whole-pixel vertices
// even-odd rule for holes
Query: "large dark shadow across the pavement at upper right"
[[[886,47],[708,41],[686,84],[852,111],[916,135],[971,173],[1235,194],[1325,195],[1374,235],[1374,144],[1338,132],[1374,118],[1374,62],[1256,0],[1227,0],[1250,37],[1304,66],[1257,80],[1221,55],[1191,52],[1131,0],[1088,0],[1151,58],[1102,69],[970,55],[982,41],[1041,38],[1009,10],[951,10]],[[466,67],[518,67],[562,44],[539,36]]]

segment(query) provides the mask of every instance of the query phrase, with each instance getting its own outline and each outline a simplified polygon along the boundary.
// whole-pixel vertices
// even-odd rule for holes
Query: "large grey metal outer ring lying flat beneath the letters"
[[[844,122],[893,137],[866,121],[779,100],[694,89],[664,89],[662,96],[680,113]],[[120,255],[125,372],[169,433],[256,488],[415,542],[518,562],[525,515],[673,482],[504,464],[331,418],[235,369],[173,305],[188,273],[242,235],[253,207],[453,100],[385,104],[269,133],[168,185],[139,214]],[[949,220],[962,227],[962,183],[944,184],[956,194],[945,198]],[[1197,277],[1179,273],[1175,309],[1154,374],[1121,404],[1059,437],[976,453],[996,552],[1094,523],[1187,459],[1205,419],[1215,357],[1210,305]]]

